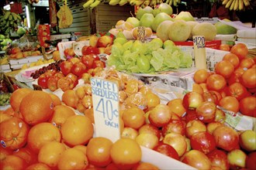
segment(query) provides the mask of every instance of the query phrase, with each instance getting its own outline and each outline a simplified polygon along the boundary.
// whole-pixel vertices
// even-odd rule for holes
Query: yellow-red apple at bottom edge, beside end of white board
[[[185,153],[180,159],[181,162],[197,169],[211,169],[209,158],[202,151],[191,150]]]

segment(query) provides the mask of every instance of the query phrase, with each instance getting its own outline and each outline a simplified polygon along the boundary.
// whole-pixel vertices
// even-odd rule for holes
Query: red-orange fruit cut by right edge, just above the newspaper
[[[244,115],[256,117],[256,97],[244,97],[239,102],[239,109]]]

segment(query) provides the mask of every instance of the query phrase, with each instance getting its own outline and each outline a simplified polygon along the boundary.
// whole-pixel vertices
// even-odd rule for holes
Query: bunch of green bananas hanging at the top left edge
[[[3,34],[9,35],[12,31],[18,29],[18,23],[21,22],[22,18],[15,12],[4,11],[4,14],[0,16],[0,28]]]

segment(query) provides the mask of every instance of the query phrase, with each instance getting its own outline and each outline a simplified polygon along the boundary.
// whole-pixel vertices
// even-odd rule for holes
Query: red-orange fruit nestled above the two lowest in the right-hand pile
[[[247,89],[241,83],[232,83],[227,89],[227,95],[236,97],[237,100],[241,100],[244,97],[250,95]]]

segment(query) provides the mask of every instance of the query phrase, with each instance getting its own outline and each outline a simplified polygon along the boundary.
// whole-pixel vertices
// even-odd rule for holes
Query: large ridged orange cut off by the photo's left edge
[[[0,124],[0,141],[3,147],[16,150],[26,144],[29,126],[19,117],[12,117]]]

